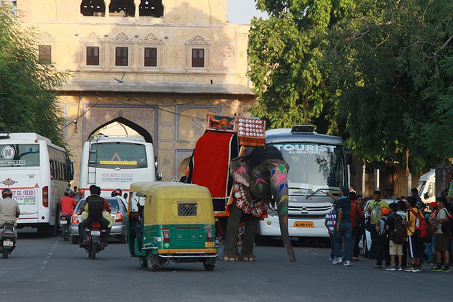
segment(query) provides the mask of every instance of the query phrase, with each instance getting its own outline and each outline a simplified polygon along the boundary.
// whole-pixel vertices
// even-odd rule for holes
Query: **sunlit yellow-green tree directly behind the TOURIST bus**
[[[272,127],[316,122],[336,132],[334,95],[321,70],[327,30],[347,16],[353,1],[257,0],[267,20],[253,19],[248,75],[259,102],[251,111]],[[324,132],[323,131],[323,132]]]

